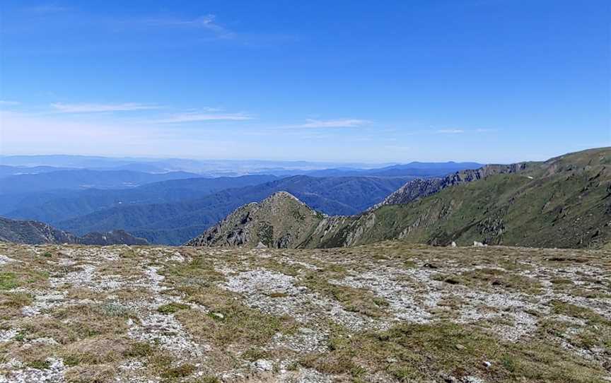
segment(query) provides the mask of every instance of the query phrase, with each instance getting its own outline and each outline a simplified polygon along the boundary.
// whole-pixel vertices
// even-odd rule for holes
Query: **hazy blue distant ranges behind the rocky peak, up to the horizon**
[[[308,170],[313,163],[275,162],[279,167],[273,170],[279,176],[202,177],[192,172],[156,171],[202,164],[214,166],[214,161],[136,161],[62,155],[0,160],[11,164],[0,166],[3,172],[0,173],[0,216],[45,222],[75,235],[127,230],[159,244],[186,242],[238,206],[262,201],[281,190],[291,192],[322,213],[354,215],[379,204],[414,177],[439,177],[479,165],[409,163],[378,169]],[[272,164],[265,161],[225,163],[250,170]],[[60,165],[65,167],[57,167]],[[129,170],[117,170],[120,168]],[[287,176],[293,172],[310,176]]]

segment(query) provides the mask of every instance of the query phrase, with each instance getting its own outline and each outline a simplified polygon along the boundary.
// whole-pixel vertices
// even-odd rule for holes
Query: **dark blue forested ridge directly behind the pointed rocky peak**
[[[235,208],[262,201],[276,192],[290,192],[323,213],[355,214],[383,201],[406,181],[405,178],[394,177],[295,176],[227,189],[199,199],[113,206],[54,224],[79,235],[120,228],[149,242],[182,244],[219,222]]]

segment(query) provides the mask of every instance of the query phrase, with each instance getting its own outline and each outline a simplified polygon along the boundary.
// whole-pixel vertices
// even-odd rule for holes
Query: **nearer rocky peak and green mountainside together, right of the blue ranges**
[[[342,247],[390,239],[608,247],[611,148],[411,181],[356,216],[322,216],[287,193],[275,194],[239,208],[189,244]]]

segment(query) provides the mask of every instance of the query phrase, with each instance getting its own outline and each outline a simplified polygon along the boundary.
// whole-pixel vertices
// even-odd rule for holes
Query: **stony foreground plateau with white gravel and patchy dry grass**
[[[611,252],[0,243],[0,382],[611,382]]]

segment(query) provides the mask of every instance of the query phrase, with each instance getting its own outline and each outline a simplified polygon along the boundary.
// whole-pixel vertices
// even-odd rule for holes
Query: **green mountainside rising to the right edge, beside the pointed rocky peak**
[[[306,242],[292,245],[342,247],[400,239],[597,248],[611,242],[610,148],[545,163],[483,167],[448,179],[435,184],[438,192],[431,195],[426,196],[431,189],[418,189],[422,198],[409,188],[411,182],[396,199],[359,216],[326,217],[315,228],[303,228],[312,231]],[[411,202],[390,204],[400,200]]]

